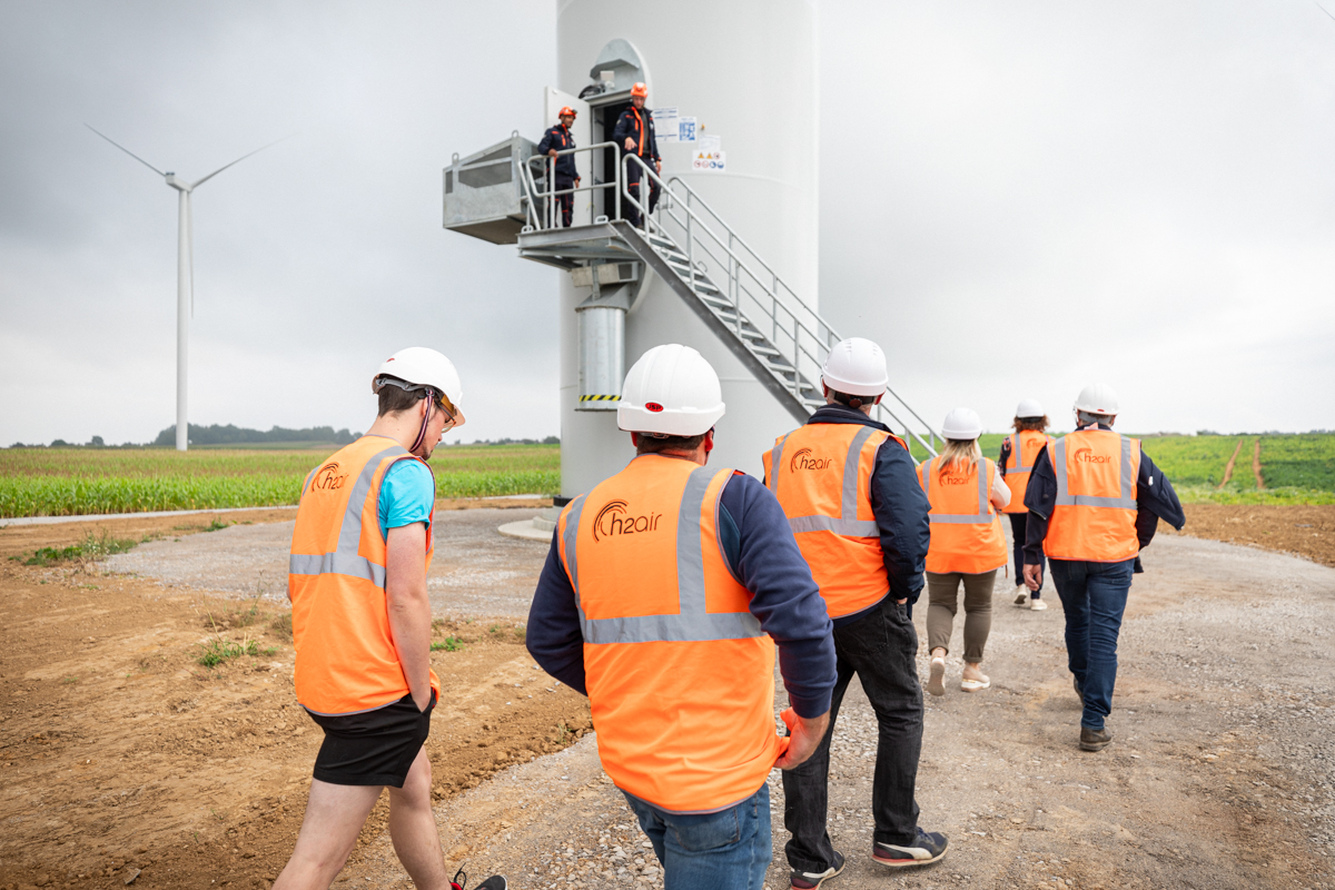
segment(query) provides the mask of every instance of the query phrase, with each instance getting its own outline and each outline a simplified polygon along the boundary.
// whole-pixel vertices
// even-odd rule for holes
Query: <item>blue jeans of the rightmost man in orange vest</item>
[[[1103,729],[1117,682],[1117,634],[1127,611],[1135,559],[1096,563],[1049,559],[1052,583],[1067,612],[1067,663],[1084,694],[1080,726]]]

